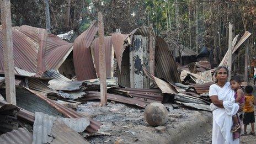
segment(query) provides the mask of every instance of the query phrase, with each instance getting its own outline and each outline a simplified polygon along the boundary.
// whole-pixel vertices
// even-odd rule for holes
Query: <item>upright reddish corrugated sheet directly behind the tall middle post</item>
[[[99,77],[99,38],[94,39],[90,46],[93,55],[94,66]],[[114,48],[111,36],[104,36],[103,49],[105,49],[106,77],[114,74]]]

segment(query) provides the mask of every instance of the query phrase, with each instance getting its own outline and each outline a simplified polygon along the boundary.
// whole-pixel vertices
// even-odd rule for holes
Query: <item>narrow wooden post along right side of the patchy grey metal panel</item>
[[[154,76],[154,35],[153,35],[153,24],[150,24],[150,73]]]

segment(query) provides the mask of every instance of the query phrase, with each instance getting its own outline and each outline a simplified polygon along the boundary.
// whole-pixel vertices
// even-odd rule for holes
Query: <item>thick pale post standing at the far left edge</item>
[[[6,100],[8,103],[16,105],[10,0],[1,0],[0,4],[4,51],[4,77],[6,78]]]

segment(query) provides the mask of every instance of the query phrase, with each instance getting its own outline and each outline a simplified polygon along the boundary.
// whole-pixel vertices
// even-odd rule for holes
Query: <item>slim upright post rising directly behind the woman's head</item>
[[[228,23],[228,81],[230,81],[231,78],[231,67],[232,67],[232,40],[233,40],[233,34],[232,34],[233,25],[231,23]]]

